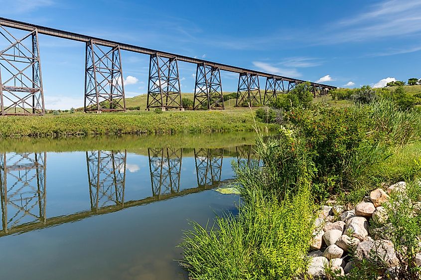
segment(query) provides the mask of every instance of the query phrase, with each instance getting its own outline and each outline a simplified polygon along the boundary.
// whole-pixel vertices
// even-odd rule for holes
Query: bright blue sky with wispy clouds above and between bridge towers
[[[420,0],[0,3],[1,17],[338,87],[421,77]],[[82,106],[85,45],[39,43],[46,107]],[[149,57],[123,51],[122,63],[126,96],[147,92]],[[195,68],[179,63],[182,92]],[[237,91],[238,74],[221,75],[224,92]]]

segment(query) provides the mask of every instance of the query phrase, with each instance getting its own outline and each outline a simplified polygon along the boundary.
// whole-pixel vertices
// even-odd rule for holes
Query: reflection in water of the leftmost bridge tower
[[[46,158],[44,153],[0,155],[2,231],[46,221]]]

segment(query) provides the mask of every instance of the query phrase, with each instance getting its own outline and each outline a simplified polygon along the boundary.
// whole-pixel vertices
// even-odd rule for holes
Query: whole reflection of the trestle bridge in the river
[[[222,182],[224,155],[228,155],[229,160],[236,157],[239,165],[259,164],[259,158],[251,145],[238,146],[235,153],[223,148],[193,149],[197,186],[181,188],[184,150],[183,148],[147,149],[151,195],[135,200],[125,199],[127,150],[86,151],[89,210],[54,217],[46,216],[47,153],[2,153],[0,154],[2,221],[0,237],[218,187]],[[192,155],[187,158],[192,158]]]

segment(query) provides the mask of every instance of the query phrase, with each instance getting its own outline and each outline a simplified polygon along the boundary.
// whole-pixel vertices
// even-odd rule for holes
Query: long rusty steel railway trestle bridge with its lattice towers
[[[28,33],[16,38],[11,29]],[[8,44],[0,50],[0,115],[45,113],[38,34],[86,44],[85,112],[126,110],[121,50],[150,56],[146,109],[182,109],[178,61],[197,66],[193,109],[224,109],[221,70],[239,74],[236,106],[268,104],[305,82],[0,17],[0,40]],[[263,102],[260,77],[266,78]],[[334,88],[309,86],[314,96]]]

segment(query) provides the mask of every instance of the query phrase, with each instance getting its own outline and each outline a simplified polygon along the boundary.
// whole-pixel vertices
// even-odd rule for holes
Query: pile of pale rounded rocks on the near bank
[[[399,266],[393,243],[389,240],[387,229],[388,203],[392,191],[406,191],[406,183],[399,182],[384,191],[375,189],[358,203],[354,209],[345,211],[340,205],[324,205],[315,220],[315,229],[308,253],[310,258],[307,275],[320,278],[326,269],[339,275],[349,273],[354,262],[363,259],[373,260],[373,253],[384,261],[388,268]],[[421,213],[421,203],[420,211]],[[373,228],[376,225],[377,227]],[[351,254],[353,255],[351,261]],[[416,255],[416,263],[421,266],[421,252]],[[373,260],[375,261],[375,260]]]

